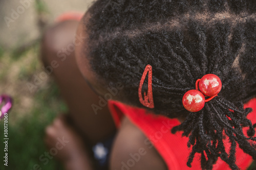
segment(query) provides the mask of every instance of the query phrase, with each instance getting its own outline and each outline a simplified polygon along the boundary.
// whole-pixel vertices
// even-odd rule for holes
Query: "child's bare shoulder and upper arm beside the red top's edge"
[[[152,145],[144,143],[145,135],[124,118],[113,145],[110,169],[166,170],[167,166]]]

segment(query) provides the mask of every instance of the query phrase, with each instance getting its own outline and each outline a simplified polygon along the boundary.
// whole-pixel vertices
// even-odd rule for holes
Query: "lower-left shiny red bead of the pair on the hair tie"
[[[183,95],[183,106],[190,112],[198,112],[204,107],[204,94],[199,90],[189,90]]]

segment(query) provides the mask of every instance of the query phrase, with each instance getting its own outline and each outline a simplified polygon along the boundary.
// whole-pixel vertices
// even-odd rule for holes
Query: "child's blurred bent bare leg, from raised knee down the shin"
[[[91,105],[97,104],[99,98],[84,81],[77,67],[74,52],[66,55],[63,61],[62,57],[57,57],[59,50],[67,48],[68,44],[73,42],[77,26],[77,21],[65,21],[50,28],[42,42],[42,60],[45,66],[51,65],[54,60],[59,64],[53,69],[54,79],[68,105],[74,125],[88,138],[89,143],[94,145],[115,132],[112,116],[108,107],[103,107],[97,115],[94,113]],[[102,129],[98,125],[105,128]]]

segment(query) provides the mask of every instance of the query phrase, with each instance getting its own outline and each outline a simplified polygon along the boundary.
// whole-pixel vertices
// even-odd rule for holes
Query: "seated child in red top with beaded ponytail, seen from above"
[[[75,19],[58,22],[42,59],[59,64],[53,73],[73,127],[56,118],[46,142],[70,141],[57,155],[67,169],[248,168],[256,159],[255,12],[250,0],[98,0],[75,40]]]

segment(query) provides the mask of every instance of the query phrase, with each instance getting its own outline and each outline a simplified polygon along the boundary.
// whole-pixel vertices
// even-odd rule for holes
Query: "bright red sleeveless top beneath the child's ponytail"
[[[250,107],[253,109],[247,117],[251,120],[252,124],[255,124],[256,98],[250,100],[244,105],[244,107]],[[133,108],[116,101],[109,101],[109,109],[112,113],[117,128],[120,127],[121,119],[125,115],[145,134],[145,136],[153,143],[156,150],[162,156],[168,169],[201,169],[199,153],[195,155],[194,161],[191,163],[191,168],[186,165],[188,155],[191,151],[191,149],[187,148],[188,138],[182,137],[182,132],[177,132],[176,134],[170,133],[170,129],[172,129],[174,126],[180,125],[178,119],[170,119],[165,116],[146,113],[144,109]],[[244,128],[244,133],[246,132],[246,129],[247,128]],[[145,141],[145,144],[147,144],[149,148],[152,148],[149,140]],[[227,140],[225,144],[226,146],[229,145]],[[228,148],[229,147],[227,147],[226,150],[227,153]],[[252,157],[245,154],[238,146],[236,157],[236,163],[241,169],[247,169],[253,161]],[[230,168],[226,162],[219,158],[213,169],[222,170]]]

